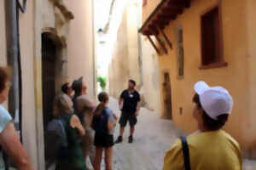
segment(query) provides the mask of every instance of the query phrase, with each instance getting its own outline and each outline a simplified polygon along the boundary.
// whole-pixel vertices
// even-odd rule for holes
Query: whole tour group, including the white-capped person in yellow
[[[9,75],[9,69],[0,67],[0,170],[5,169],[5,155],[18,169],[33,170],[32,163],[15,132],[12,117],[3,107],[11,87]],[[87,157],[90,158],[94,169],[100,170],[103,153],[106,169],[113,169],[113,145],[123,142],[128,122],[128,142],[133,143],[137,116],[141,108],[140,94],[135,89],[136,82],[130,80],[128,84],[128,88],[119,98],[120,117],[108,107],[107,93],[98,95],[98,105],[88,99],[83,77],[62,85],[63,93],[55,97],[53,115],[56,119],[61,117],[65,124],[67,156],[57,158],[56,170],[87,170]],[[196,82],[194,90],[192,101],[195,108],[191,114],[195,117],[198,131],[176,140],[166,152],[163,170],[241,170],[240,146],[236,139],[223,130],[233,108],[229,91],[222,87],[210,87],[206,82]],[[119,136],[114,140],[114,128],[118,121]]]

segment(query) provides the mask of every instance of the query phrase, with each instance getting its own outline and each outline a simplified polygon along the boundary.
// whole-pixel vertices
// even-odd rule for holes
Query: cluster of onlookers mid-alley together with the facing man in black
[[[67,124],[66,129],[70,131],[67,132],[67,141],[72,141],[69,148],[73,151],[70,151],[65,159],[58,160],[55,169],[89,169],[84,161],[89,157],[94,169],[100,170],[104,153],[106,169],[112,170],[113,144],[122,142],[127,122],[130,122],[131,127],[129,143],[133,142],[133,133],[140,110],[140,95],[135,87],[136,82],[129,80],[128,89],[121,94],[119,109],[122,114],[119,119],[108,107],[109,96],[107,93],[102,92],[98,95],[99,104],[96,106],[88,99],[83,77],[75,80],[72,84],[62,85],[63,94],[58,95],[55,99],[54,115],[64,118]],[[63,109],[67,111],[63,111]],[[118,120],[120,135],[114,141],[114,127]],[[78,129],[79,133],[75,129]],[[81,140],[78,140],[77,135],[82,136]]]

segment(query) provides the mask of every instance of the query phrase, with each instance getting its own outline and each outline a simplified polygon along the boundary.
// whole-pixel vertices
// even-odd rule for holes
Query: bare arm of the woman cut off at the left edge
[[[32,164],[26,155],[26,151],[20,144],[18,133],[16,133],[15,126],[12,122],[9,122],[0,134],[0,144],[19,170],[33,170]]]

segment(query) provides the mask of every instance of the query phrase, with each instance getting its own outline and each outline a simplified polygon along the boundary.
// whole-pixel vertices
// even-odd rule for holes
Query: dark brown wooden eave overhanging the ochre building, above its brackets
[[[139,32],[145,36],[158,35],[159,29],[164,30],[170,21],[176,20],[177,15],[183,14],[183,10],[189,7],[190,0],[162,0]]]

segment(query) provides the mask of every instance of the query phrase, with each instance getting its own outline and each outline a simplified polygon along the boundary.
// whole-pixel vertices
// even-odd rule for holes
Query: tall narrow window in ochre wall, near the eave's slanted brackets
[[[184,77],[183,28],[177,27],[177,77]]]

